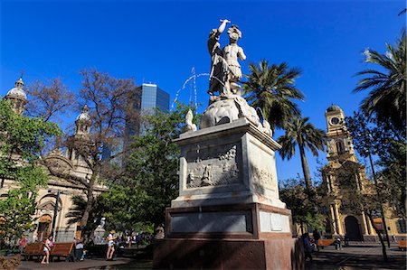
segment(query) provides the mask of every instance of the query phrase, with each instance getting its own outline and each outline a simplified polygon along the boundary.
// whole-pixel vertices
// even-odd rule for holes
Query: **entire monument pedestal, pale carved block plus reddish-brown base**
[[[244,117],[175,142],[180,191],[166,209],[154,268],[302,268],[291,211],[279,200],[279,144]]]

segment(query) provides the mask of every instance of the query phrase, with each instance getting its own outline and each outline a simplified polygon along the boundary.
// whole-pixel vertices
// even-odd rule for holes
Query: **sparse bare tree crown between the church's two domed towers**
[[[75,101],[73,93],[61,79],[51,79],[48,84],[34,80],[25,91],[30,96],[25,107],[28,115],[43,118],[45,122],[65,114]]]

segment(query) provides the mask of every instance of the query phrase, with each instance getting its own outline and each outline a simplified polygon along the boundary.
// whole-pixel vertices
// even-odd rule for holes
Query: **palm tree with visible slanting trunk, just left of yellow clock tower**
[[[324,131],[309,123],[308,119],[308,117],[300,116],[292,118],[284,126],[286,134],[280,136],[277,142],[282,146],[279,154],[283,159],[288,160],[296,154],[298,145],[306,188],[310,191],[312,182],[305,150],[309,149],[315,156],[318,155],[318,150],[324,150]]]

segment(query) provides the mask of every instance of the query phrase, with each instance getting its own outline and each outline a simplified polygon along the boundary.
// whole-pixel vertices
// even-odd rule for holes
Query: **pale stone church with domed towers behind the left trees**
[[[28,99],[24,91],[23,79],[20,78],[15,82],[14,88],[7,92],[5,99],[12,101],[15,113],[24,113]],[[62,153],[61,150],[54,149],[46,155],[45,159],[58,167],[66,168],[69,173],[90,177],[91,171],[87,163],[75,151],[75,145],[90,137],[90,124],[89,109],[85,106],[75,120],[75,133],[68,138],[70,144],[68,144],[66,152]],[[43,169],[47,170],[45,167]],[[13,180],[2,179],[0,198],[7,196],[7,192],[15,188],[16,183]],[[95,188],[96,193],[106,190],[107,188],[101,185]],[[68,226],[68,219],[65,216],[72,207],[71,198],[78,195],[83,196],[83,191],[84,189],[79,184],[50,174],[48,187],[39,189],[35,214],[37,219],[33,231],[28,234],[29,242],[42,241],[44,237],[51,234],[52,228],[55,231],[54,240],[57,242],[71,242],[74,237],[80,237],[79,224]],[[102,236],[103,233],[102,226],[99,226],[95,235]]]

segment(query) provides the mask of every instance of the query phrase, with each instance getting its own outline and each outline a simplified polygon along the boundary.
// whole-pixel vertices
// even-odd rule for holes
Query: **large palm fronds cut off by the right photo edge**
[[[355,92],[370,89],[361,103],[361,108],[368,116],[375,116],[378,121],[390,123],[392,128],[404,131],[406,125],[406,34],[393,47],[386,43],[387,52],[381,54],[366,49],[365,62],[379,65],[380,70],[363,70],[356,75],[366,75],[360,79]],[[383,71],[382,71],[383,70]]]

